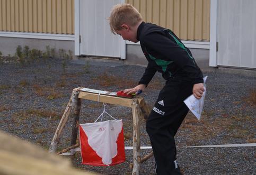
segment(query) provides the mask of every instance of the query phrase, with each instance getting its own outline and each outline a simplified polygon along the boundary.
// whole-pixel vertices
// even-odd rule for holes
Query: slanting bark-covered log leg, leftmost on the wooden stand
[[[64,126],[66,125],[66,123],[68,121],[68,117],[69,117],[70,111],[72,109],[72,100],[74,98],[78,97],[79,91],[77,91],[77,90],[78,89],[74,89],[73,92],[72,92],[72,96],[69,99],[69,102],[67,104],[65,112],[64,112],[63,116],[61,117],[59,125],[57,127],[57,130],[54,134],[54,137],[52,138],[50,148],[49,148],[49,152],[56,152],[56,150],[57,150],[57,144],[59,143],[59,139],[60,139],[60,136],[63,132],[63,128],[64,128]]]

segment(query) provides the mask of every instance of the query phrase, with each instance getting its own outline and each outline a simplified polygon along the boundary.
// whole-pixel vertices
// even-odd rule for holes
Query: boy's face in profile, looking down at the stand
[[[137,40],[137,32],[134,32],[128,25],[123,24],[122,29],[116,31],[117,34],[122,36],[123,40],[128,40],[131,42],[138,42]]]

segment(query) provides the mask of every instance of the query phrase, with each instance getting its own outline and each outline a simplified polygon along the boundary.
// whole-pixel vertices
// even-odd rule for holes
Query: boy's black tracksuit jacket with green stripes
[[[172,77],[192,84],[204,82],[190,50],[171,30],[142,22],[137,30],[137,39],[148,61],[139,84],[148,85],[156,71],[161,72],[166,80]]]

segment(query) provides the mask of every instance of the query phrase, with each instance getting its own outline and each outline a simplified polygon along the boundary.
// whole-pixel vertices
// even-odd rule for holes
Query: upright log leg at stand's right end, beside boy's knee
[[[134,153],[134,166],[133,166],[133,175],[139,174],[140,169],[140,133],[139,133],[139,106],[138,101],[134,100],[133,105],[133,153]]]

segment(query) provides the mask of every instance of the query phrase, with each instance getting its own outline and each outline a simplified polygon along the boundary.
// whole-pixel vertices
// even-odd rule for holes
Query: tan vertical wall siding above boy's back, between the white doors
[[[143,20],[169,28],[182,40],[210,40],[210,0],[126,0]]]

